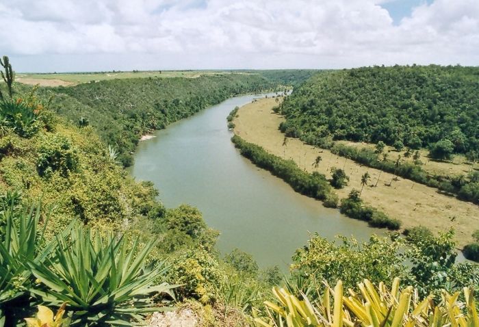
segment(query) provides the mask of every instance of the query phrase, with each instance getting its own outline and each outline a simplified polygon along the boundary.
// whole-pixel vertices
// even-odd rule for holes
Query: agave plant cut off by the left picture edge
[[[53,247],[44,244],[44,231],[38,231],[40,205],[17,207],[12,200],[3,203],[0,220],[0,326],[14,324],[14,315],[29,306],[29,289],[34,283],[25,263],[42,265]],[[3,233],[4,232],[4,233]]]

